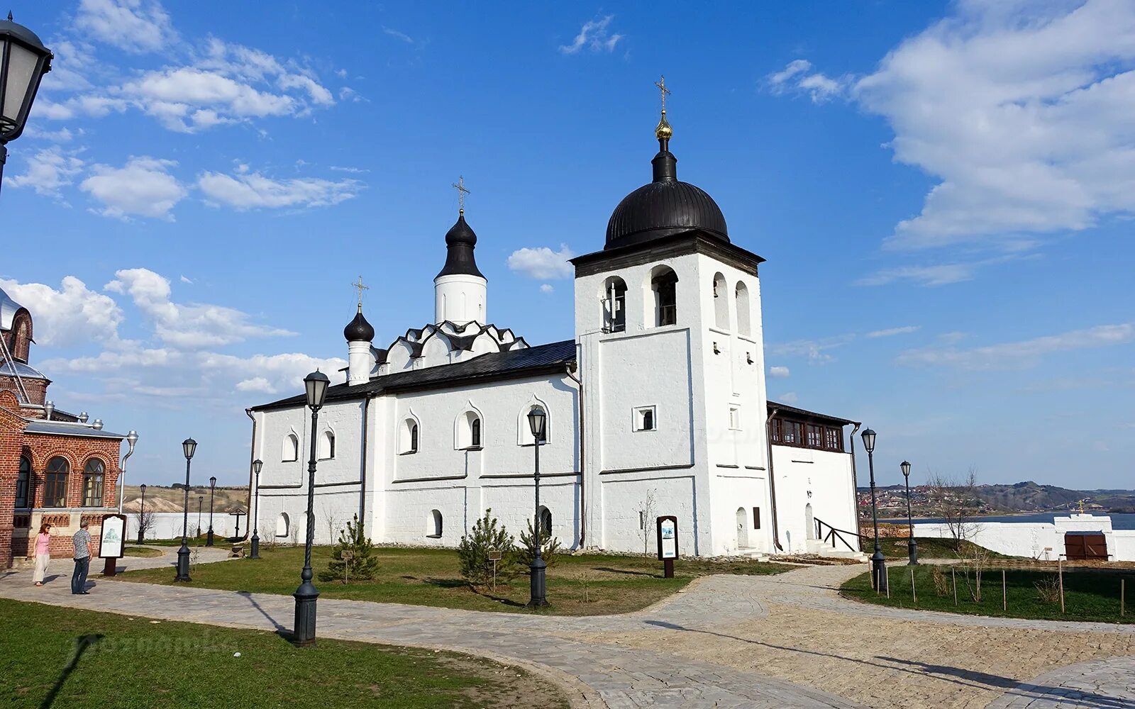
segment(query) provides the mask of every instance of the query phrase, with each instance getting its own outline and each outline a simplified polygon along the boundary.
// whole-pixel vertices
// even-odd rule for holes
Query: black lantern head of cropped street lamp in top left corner
[[[51,70],[51,50],[35,33],[11,20],[0,20],[0,179],[8,143],[24,133],[40,79]]]

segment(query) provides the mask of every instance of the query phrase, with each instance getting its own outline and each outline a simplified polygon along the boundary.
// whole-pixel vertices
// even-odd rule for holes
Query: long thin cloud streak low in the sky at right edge
[[[1014,370],[1037,364],[1044,355],[1121,345],[1135,340],[1135,323],[1104,324],[1016,343],[961,349],[952,344],[908,349],[899,364],[951,366],[961,370]]]

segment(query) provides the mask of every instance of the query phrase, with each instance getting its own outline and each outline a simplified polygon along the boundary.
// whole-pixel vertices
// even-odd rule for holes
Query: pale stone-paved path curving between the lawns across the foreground
[[[171,564],[175,552],[134,567]],[[319,635],[518,664],[556,681],[579,707],[1135,708],[1133,628],[840,598],[839,583],[864,568],[711,576],[639,613],[582,618],[325,599]],[[91,596],[73,597],[66,583],[35,589],[24,575],[0,580],[0,597],[234,627],[292,624],[286,596],[95,576]],[[1035,703],[1042,699],[1050,703]]]

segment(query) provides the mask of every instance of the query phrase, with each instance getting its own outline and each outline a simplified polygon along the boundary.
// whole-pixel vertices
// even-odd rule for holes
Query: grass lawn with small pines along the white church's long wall
[[[461,579],[453,549],[379,548],[379,573],[372,581],[320,582],[327,568],[329,547],[312,549],[312,568],[320,598],[439,606],[470,610],[528,611],[528,575],[499,583],[496,591],[473,591]],[[302,547],[261,547],[260,559],[233,559],[201,564],[192,569],[191,585],[252,593],[291,594],[300,584]],[[662,562],[633,556],[583,555],[557,557],[548,568],[548,601],[540,613],[604,615],[639,610],[707,574],[776,574],[784,564],[760,562],[715,563],[678,559],[674,579],[662,577]],[[171,584],[169,568],[140,569],[118,576],[120,581]]]

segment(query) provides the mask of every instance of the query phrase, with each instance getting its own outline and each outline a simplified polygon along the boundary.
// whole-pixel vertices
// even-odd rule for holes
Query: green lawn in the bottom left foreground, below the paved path
[[[0,658],[14,709],[568,707],[543,680],[453,652],[325,639],[299,650],[269,632],[11,600],[0,600]]]

